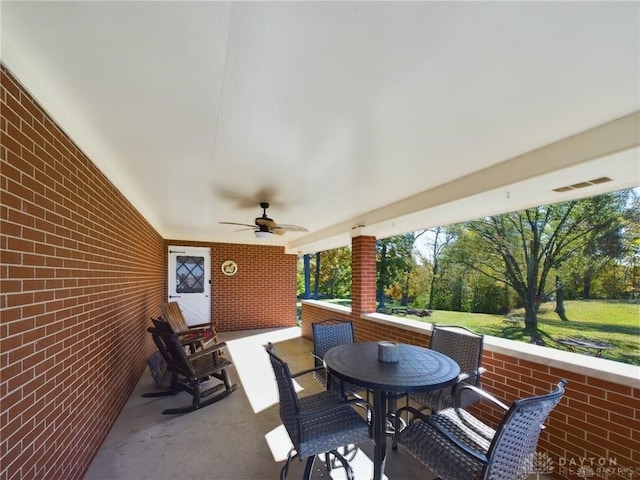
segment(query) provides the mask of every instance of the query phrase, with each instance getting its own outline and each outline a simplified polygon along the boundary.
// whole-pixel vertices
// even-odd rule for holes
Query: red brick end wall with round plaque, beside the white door
[[[211,248],[211,312],[218,331],[295,326],[296,255],[266,245],[181,240],[166,245]],[[224,275],[225,260],[236,262],[238,273]]]

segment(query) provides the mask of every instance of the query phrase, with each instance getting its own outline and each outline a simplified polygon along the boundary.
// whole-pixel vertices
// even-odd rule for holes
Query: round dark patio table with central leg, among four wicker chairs
[[[339,345],[324,355],[333,375],[373,391],[375,443],[373,479],[381,480],[386,460],[387,399],[404,392],[439,390],[456,383],[460,367],[442,353],[415,345],[398,345],[398,361],[378,360],[377,342]]]

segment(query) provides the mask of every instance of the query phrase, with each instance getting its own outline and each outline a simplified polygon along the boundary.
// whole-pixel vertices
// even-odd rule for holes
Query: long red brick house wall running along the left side
[[[145,368],[164,241],[2,67],[0,478],[79,479]]]

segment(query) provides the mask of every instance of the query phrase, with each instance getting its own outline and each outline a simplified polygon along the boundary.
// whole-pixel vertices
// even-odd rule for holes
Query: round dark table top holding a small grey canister
[[[428,348],[398,345],[399,360],[378,360],[376,342],[339,345],[324,356],[330,373],[350,383],[387,392],[413,392],[453,385],[460,367],[451,358]]]

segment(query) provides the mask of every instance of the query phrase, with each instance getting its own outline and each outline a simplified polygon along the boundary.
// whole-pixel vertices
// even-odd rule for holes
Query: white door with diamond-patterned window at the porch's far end
[[[211,250],[169,247],[169,301],[178,302],[189,325],[211,321]]]

